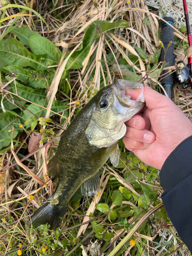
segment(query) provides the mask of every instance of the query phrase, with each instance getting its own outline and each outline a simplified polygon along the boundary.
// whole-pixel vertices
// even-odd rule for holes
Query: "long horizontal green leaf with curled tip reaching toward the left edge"
[[[31,86],[33,88],[46,89],[47,81],[50,88],[50,85],[54,76],[53,70],[50,70],[50,71],[49,70],[44,70],[44,71],[29,70],[28,71],[26,69],[22,69],[17,66],[8,66],[3,69],[3,72],[9,73],[10,71],[8,69],[18,73],[17,81],[20,80],[26,83],[27,86]],[[47,81],[45,78],[47,79]]]

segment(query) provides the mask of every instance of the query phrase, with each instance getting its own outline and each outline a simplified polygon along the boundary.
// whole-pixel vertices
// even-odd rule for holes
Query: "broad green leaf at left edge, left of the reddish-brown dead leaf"
[[[19,128],[18,124],[20,123],[19,118],[14,115],[14,113],[4,112],[0,114],[0,149],[4,146],[8,146],[11,143],[11,134],[13,126],[15,131],[13,133],[13,139],[17,136],[18,132],[22,132],[23,129]],[[14,123],[14,124],[13,124]]]

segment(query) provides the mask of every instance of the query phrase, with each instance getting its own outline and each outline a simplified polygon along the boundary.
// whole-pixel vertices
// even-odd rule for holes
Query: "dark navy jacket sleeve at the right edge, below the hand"
[[[192,252],[192,136],[167,157],[160,172],[166,212],[180,238]]]

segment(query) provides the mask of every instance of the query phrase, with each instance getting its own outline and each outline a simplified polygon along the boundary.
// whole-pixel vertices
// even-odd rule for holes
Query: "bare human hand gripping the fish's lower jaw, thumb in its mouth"
[[[127,89],[125,94],[136,99],[140,92]],[[144,99],[141,113],[125,123],[123,142],[141,161],[161,169],[170,153],[192,135],[192,124],[172,100],[150,87],[144,87]]]

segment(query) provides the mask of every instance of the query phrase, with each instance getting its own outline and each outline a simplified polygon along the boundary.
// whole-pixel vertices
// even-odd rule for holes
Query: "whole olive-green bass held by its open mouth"
[[[132,100],[125,95],[127,88],[141,88],[139,97]],[[62,135],[48,163],[49,176],[58,178],[58,184],[53,195],[32,215],[33,226],[48,223],[55,230],[80,186],[84,196],[100,190],[100,167],[109,158],[115,167],[118,165],[118,141],[126,133],[125,122],[144,104],[143,85],[123,79],[114,79],[91,98]]]

